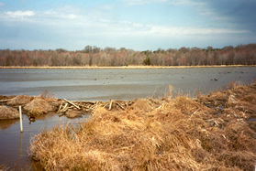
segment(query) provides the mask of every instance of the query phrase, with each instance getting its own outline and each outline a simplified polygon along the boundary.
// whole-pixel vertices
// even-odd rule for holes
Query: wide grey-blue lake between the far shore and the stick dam
[[[217,79],[217,80],[214,80]],[[0,69],[1,95],[50,91],[76,101],[132,100],[216,91],[230,81],[256,80],[256,67],[193,69]]]

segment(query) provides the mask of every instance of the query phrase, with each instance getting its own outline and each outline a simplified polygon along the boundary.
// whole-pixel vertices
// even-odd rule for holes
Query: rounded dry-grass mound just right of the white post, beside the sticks
[[[28,111],[28,115],[30,116],[39,116],[56,110],[50,102],[47,102],[42,98],[35,98],[33,101],[28,102],[28,104],[24,106],[24,109]]]

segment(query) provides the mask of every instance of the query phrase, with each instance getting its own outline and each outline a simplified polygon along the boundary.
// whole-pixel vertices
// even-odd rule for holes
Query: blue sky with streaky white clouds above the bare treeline
[[[256,43],[256,0],[0,0],[0,49]]]

